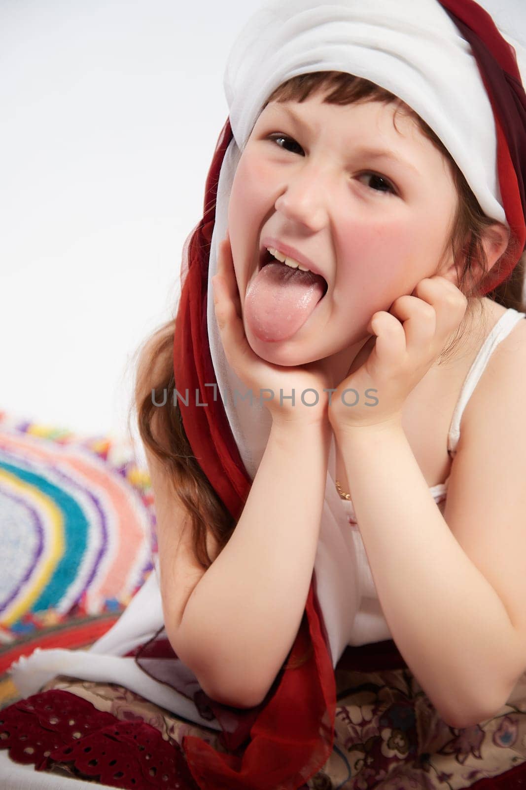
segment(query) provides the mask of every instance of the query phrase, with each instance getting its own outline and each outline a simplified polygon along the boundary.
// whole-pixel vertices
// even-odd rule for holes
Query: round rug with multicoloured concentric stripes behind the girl
[[[80,648],[113,625],[153,568],[149,475],[132,444],[0,412],[0,708],[9,665]]]

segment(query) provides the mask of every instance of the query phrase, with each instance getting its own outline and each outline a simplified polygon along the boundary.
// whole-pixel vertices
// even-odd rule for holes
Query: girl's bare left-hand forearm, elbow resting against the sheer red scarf
[[[273,424],[236,529],[188,599],[179,639],[191,645],[191,668],[219,701],[256,704],[296,638],[318,544],[330,435],[328,423],[286,431]]]

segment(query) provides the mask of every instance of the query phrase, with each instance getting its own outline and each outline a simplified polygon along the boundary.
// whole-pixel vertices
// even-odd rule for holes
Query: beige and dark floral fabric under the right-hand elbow
[[[334,748],[312,790],[460,790],[526,761],[526,672],[497,715],[464,729],[442,720],[407,668],[336,677]],[[526,766],[520,777],[517,788]],[[515,786],[511,774],[502,784]]]

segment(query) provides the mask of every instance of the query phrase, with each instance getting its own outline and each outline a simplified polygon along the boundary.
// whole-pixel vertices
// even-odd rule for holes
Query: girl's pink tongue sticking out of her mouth
[[[267,263],[248,288],[244,314],[252,332],[267,342],[289,340],[304,325],[325,293],[319,274]]]

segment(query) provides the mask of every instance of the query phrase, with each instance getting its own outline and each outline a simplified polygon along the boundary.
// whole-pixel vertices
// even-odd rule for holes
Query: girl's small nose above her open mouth
[[[289,176],[274,207],[288,220],[319,231],[327,220],[328,186],[319,168],[304,166],[299,173]]]

